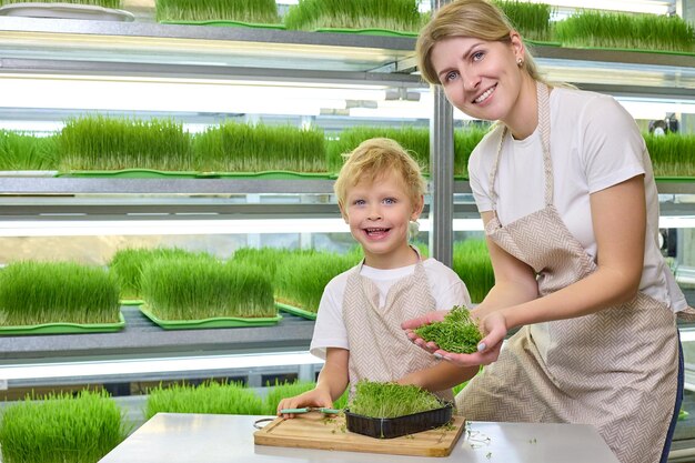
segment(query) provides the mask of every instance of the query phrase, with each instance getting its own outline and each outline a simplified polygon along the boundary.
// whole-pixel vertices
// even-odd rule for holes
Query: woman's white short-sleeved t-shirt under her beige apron
[[[570,232],[596,261],[590,194],[644,174],[647,205],[644,270],[639,290],[673,311],[687,306],[658,246],[658,193],[652,161],[632,115],[608,95],[566,88],[551,92],[553,200]],[[562,110],[561,110],[562,109]],[[486,135],[469,160],[471,190],[481,212],[491,211],[490,172],[498,132]],[[503,224],[544,207],[545,177],[540,130],[524,140],[507,132],[495,179]]]

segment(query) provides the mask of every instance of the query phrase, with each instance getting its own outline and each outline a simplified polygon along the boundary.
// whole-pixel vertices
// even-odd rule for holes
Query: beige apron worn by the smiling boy
[[[362,264],[351,271],[343,299],[343,321],[350,345],[351,397],[359,380],[396,381],[439,362],[410,342],[401,329],[403,321],[436,309],[420,259],[413,274],[391,286],[383,308],[379,306],[376,285],[360,275],[361,269]],[[436,394],[446,401],[454,399],[451,390]]]

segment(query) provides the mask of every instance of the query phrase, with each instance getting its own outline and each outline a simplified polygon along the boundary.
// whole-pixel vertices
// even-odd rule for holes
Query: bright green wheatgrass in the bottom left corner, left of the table
[[[27,396],[2,412],[2,461],[95,463],[125,439],[124,423],[121,409],[103,391]]]

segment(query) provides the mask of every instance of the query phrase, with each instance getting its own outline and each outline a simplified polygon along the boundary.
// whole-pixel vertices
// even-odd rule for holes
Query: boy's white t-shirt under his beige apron
[[[453,270],[435,259],[425,259],[422,261],[422,265],[437,310],[450,310],[454,305],[461,304],[471,306],[469,290]],[[310,345],[310,352],[320,359],[325,359],[326,348],[350,350],[348,332],[343,322],[343,296],[351,271],[352,269],[331,280],[321,296],[316,323],[314,324],[314,334]],[[362,265],[360,274],[374,282],[379,289],[380,305],[383,306],[389,289],[399,280],[414,273],[414,271],[415,265],[390,270]],[[405,336],[405,331],[403,336]]]

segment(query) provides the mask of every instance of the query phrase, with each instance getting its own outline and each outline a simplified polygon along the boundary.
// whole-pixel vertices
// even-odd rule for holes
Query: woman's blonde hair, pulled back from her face
[[[432,49],[444,39],[469,37],[488,42],[511,43],[512,23],[500,8],[486,0],[456,0],[437,11],[417,37],[417,64],[422,77],[430,83],[441,84],[436,70],[432,66]],[[523,68],[534,80],[544,81],[538,68],[528,52]]]

